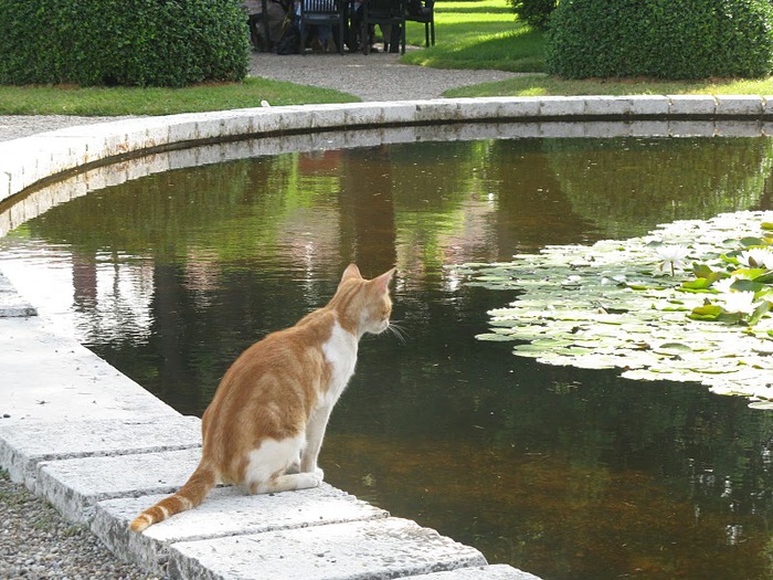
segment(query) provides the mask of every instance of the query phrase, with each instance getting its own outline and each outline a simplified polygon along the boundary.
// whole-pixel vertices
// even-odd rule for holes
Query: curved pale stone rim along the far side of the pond
[[[0,201],[84,166],[261,136],[481,122],[717,119],[773,119],[773,98],[758,95],[441,98],[141,117],[0,143]]]

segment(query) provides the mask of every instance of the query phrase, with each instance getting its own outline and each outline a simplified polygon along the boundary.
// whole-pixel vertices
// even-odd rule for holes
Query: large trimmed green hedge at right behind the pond
[[[770,0],[562,0],[547,34],[548,72],[592,76],[765,76]]]

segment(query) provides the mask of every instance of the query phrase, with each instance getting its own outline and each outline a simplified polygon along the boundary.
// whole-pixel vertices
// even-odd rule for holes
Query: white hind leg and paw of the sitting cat
[[[306,444],[305,435],[282,441],[264,440],[250,452],[244,482],[251,494],[271,494],[318,487],[321,477],[317,473],[286,473],[297,465],[298,454]]]

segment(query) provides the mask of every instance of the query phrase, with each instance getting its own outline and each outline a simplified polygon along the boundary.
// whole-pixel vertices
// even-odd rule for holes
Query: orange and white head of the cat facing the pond
[[[389,284],[394,271],[392,268],[373,280],[363,278],[354,264],[343,272],[332,302],[337,302],[352,321],[356,320],[360,336],[366,333],[378,335],[389,328],[392,314]]]

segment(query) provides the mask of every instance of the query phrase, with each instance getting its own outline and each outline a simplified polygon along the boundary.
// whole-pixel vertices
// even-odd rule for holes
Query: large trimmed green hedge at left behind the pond
[[[239,81],[240,0],[0,0],[0,84],[186,86]]]

